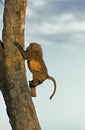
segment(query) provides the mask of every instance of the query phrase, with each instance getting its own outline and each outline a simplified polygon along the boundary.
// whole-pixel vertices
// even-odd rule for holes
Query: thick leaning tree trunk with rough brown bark
[[[12,130],[41,130],[26,80],[24,60],[13,45],[24,45],[26,0],[6,0],[0,46],[0,87]],[[4,82],[3,82],[4,81]]]

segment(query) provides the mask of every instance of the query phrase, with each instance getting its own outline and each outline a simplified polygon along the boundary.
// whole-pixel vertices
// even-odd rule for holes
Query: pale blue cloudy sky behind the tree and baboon
[[[0,38],[3,6],[0,5]],[[38,42],[50,75],[33,98],[42,130],[85,130],[85,0],[29,0],[25,46]],[[31,73],[27,69],[27,78]],[[11,130],[0,94],[0,129]],[[4,108],[4,109],[3,109]]]

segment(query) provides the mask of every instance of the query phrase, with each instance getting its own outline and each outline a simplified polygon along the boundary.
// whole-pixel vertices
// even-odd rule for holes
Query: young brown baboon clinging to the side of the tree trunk
[[[56,92],[56,82],[55,79],[48,75],[46,65],[43,61],[42,48],[38,43],[30,43],[30,45],[23,50],[22,46],[14,42],[13,43],[21,52],[23,58],[27,60],[28,67],[33,75],[33,80],[29,81],[29,86],[31,90],[31,96],[36,97],[36,86],[40,85],[46,79],[50,79],[54,83],[54,91],[50,96],[50,99],[54,96]]]

